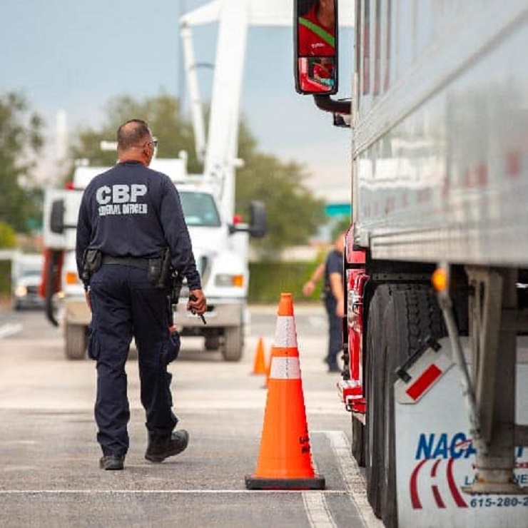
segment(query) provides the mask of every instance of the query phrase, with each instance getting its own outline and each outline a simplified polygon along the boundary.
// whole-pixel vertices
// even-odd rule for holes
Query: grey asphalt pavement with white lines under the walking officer
[[[245,475],[254,474],[258,461],[267,394],[253,361],[260,337],[269,357],[275,323],[275,307],[251,309],[237,363],[203,352],[200,339],[183,340],[171,372],[178,427],[189,431],[191,442],[162,464],[143,458],[138,369],[129,360],[131,448],[124,471],[104,472],[93,423],[94,363],[66,360],[61,330],[43,313],[0,311],[0,526],[380,526],[350,456],[350,415],[337,399],[338,377],[323,364],[327,327],[318,305],[295,307],[295,323],[300,397],[325,490],[246,489]]]

